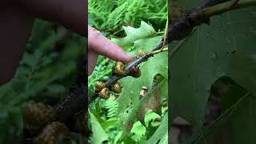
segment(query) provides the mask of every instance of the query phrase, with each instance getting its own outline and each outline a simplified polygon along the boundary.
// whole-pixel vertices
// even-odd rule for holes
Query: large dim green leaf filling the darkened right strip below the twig
[[[191,8],[198,2],[178,1],[178,4]],[[171,120],[182,116],[198,133],[203,131],[202,121],[210,86],[218,78],[229,76],[250,92],[250,97],[246,97],[239,102],[237,108],[229,111],[231,114],[227,118],[230,121],[226,125],[233,131],[232,142],[254,143],[252,134],[255,134],[255,130],[250,126],[254,126],[256,118],[256,101],[253,96],[256,94],[255,22],[255,7],[215,16],[211,18],[210,26],[198,27],[175,51],[170,58]],[[169,47],[174,48],[175,43]],[[237,101],[242,100],[243,96],[240,95]],[[234,94],[228,101],[232,101],[232,97],[234,98]],[[230,109],[234,105],[233,103]]]

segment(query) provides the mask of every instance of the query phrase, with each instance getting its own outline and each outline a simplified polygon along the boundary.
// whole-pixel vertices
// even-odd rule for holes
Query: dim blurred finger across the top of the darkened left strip
[[[87,36],[87,0],[19,0],[26,10],[39,18],[62,25]]]

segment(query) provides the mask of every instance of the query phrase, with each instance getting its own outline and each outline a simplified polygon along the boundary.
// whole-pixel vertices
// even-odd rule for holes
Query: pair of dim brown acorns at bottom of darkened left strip
[[[22,110],[24,128],[30,136],[35,136],[34,144],[60,143],[60,136],[69,136],[70,130],[62,122],[54,122],[54,108],[42,102],[26,102]],[[61,143],[68,143],[69,140]]]

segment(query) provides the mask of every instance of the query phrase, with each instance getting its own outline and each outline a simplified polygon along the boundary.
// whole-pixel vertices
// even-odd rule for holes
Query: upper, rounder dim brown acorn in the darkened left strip
[[[46,124],[54,121],[54,109],[42,102],[26,102],[22,110],[24,127],[30,134],[38,134]]]

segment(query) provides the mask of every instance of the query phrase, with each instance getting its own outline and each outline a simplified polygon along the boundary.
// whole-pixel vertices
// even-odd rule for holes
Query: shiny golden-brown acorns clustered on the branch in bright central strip
[[[130,70],[125,69],[125,65],[122,62],[116,62],[113,75],[116,76],[132,76],[134,78],[138,78],[141,76],[141,71],[139,70],[138,66],[133,66]],[[114,92],[115,94],[120,94],[122,92],[122,86],[119,82],[115,82],[111,86],[106,86],[105,82],[96,82],[95,83],[95,92],[98,94],[98,97],[103,99],[110,98],[110,91]]]

